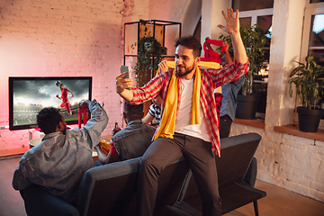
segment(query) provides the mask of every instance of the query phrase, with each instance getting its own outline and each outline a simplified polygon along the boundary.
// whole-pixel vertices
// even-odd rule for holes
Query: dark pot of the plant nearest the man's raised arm
[[[259,102],[259,100],[260,94],[238,94],[235,118],[246,120],[255,119],[257,112],[257,103]]]

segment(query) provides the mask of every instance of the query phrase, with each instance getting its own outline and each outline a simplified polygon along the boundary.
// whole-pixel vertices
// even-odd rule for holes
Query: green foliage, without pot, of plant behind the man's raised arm
[[[257,76],[262,68],[266,69],[266,53],[264,48],[270,45],[270,39],[267,36],[271,33],[270,31],[263,30],[257,24],[252,27],[242,25],[239,31],[250,63],[250,68],[245,76],[246,80],[242,87],[242,94],[247,95],[251,94],[252,89],[254,89],[253,76]],[[229,52],[232,52],[233,46],[230,36],[220,34],[220,40],[226,40],[229,43]]]

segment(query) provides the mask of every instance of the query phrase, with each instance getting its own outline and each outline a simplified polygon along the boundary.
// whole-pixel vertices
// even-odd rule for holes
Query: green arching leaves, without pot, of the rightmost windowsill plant
[[[289,94],[293,96],[293,85],[296,85],[298,102],[307,109],[315,109],[319,96],[324,94],[324,67],[317,65],[313,55],[305,58],[306,64],[297,62],[289,79]]]

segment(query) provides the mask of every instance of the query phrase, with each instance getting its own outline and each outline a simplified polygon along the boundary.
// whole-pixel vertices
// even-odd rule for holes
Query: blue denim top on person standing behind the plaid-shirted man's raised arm
[[[220,117],[229,115],[229,118],[234,121],[235,112],[237,108],[238,91],[245,81],[245,76],[240,76],[238,82],[231,82],[227,85],[221,86],[221,94],[223,99],[220,107]]]

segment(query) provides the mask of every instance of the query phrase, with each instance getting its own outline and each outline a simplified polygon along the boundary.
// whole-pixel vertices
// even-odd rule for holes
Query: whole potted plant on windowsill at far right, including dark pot
[[[305,58],[306,64],[297,62],[289,79],[289,94],[293,96],[293,85],[296,85],[299,129],[304,132],[317,132],[323,109],[316,105],[324,95],[324,67],[317,65],[313,55]],[[296,62],[296,61],[295,61]]]

